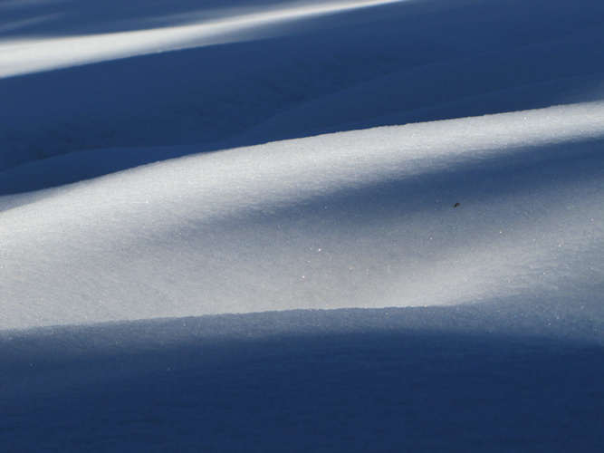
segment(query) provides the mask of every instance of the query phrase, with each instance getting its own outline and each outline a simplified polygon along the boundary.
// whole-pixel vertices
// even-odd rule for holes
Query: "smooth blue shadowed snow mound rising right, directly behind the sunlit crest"
[[[552,45],[554,43],[555,47]],[[604,97],[601,72],[604,65],[586,62],[580,57],[579,50],[586,44],[593,47],[594,53],[604,52],[604,41],[601,37],[577,42],[532,43],[513,50],[465,55],[452,60],[381,74],[369,81],[295,105],[242,132],[238,139],[275,136],[291,138],[296,135],[307,135],[306,132],[312,130],[335,128],[341,130],[346,128],[347,124],[369,123],[388,116],[402,119],[406,115],[410,117],[412,112],[446,108],[447,105],[455,103],[461,105],[464,101],[493,97],[497,93],[503,95],[506,92],[509,94],[509,100],[516,101],[506,103],[498,101],[493,105],[503,103],[505,107],[510,107],[510,104],[515,104],[516,108],[503,108],[497,111],[523,110],[521,101],[517,101],[522,100],[523,97],[532,99],[538,96],[542,99],[541,105],[525,108],[545,107],[556,103],[598,101]],[[542,68],[543,55],[548,56],[547,61],[550,63],[546,69]],[[511,67],[516,68],[520,75],[509,79],[497,79],[497,74]],[[571,87],[566,91],[561,90],[561,87],[553,86],[548,92],[540,93],[540,87],[546,87],[548,83],[580,77],[593,77],[592,82],[597,83],[591,87],[591,90],[589,85]],[[413,91],[399,89],[405,86],[417,88]],[[451,86],[455,86],[454,91],[450,90]],[[512,95],[527,88],[535,88],[535,90],[528,92],[526,96]],[[577,99],[581,96],[583,99]],[[483,105],[490,104],[484,101]],[[456,117],[461,116],[467,114],[456,115]],[[455,116],[451,118],[453,117]],[[402,122],[404,121],[398,121],[398,124]]]

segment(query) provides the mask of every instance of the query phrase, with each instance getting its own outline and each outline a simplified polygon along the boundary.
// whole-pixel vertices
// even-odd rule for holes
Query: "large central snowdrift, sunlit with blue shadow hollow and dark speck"
[[[591,296],[603,104],[274,142],[50,191],[0,214],[0,328]]]

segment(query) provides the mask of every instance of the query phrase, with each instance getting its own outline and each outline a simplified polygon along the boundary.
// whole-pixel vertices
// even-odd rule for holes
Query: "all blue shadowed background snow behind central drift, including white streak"
[[[13,76],[0,78],[0,170],[80,151],[216,150],[603,99],[599,0],[240,4],[5,6],[13,26],[0,73]],[[32,16],[47,20],[23,23]],[[125,169],[171,157],[111,160]],[[0,189],[116,165],[50,181],[24,171],[18,185],[0,172]]]

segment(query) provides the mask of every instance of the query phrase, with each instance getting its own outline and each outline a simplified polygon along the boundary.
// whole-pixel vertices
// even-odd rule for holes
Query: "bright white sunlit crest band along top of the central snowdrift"
[[[154,196],[164,205],[170,198],[176,203],[187,199],[203,206],[200,217],[211,219],[235,214],[241,208],[295,204],[316,195],[485,159],[510,159],[517,152],[523,153],[518,159],[530,158],[527,147],[602,137],[604,101],[585,102],[186,156],[83,181],[64,190],[51,189],[47,193],[53,195],[43,202],[51,203],[53,212],[61,212],[61,217],[77,218],[103,207],[117,213],[122,206],[130,214]],[[118,187],[120,190],[113,189]],[[100,191],[105,198],[98,204],[73,209],[72,197],[92,197]],[[32,218],[28,225],[48,226],[50,221],[49,217]]]

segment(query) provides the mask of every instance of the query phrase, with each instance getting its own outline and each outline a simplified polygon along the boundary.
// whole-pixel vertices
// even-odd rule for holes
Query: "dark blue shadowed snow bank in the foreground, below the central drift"
[[[566,317],[555,298],[509,302],[231,314],[0,335],[7,351],[4,445],[597,449],[604,369],[601,344],[585,342],[593,325]],[[590,308],[599,312],[596,304]],[[581,340],[560,341],[567,328]]]

